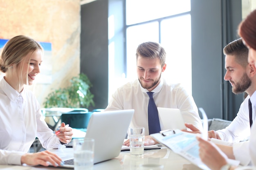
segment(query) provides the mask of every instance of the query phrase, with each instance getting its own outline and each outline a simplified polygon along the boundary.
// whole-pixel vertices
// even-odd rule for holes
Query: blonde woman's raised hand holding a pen
[[[57,131],[53,131],[53,133],[56,135],[56,137],[59,138],[59,140],[62,143],[70,143],[71,139],[72,139],[72,128],[69,127],[69,124],[65,125],[64,122],[61,123],[61,127],[56,129]]]

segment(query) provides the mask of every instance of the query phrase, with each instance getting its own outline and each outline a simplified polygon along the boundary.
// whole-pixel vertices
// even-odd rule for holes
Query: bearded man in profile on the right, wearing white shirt
[[[242,39],[235,40],[229,43],[223,49],[225,57],[225,68],[227,70],[224,79],[229,81],[232,86],[232,91],[235,94],[246,92],[248,96],[241,104],[236,118],[231,124],[222,130],[211,130],[208,132],[209,138],[221,139],[223,141],[234,142],[231,154],[231,159],[237,159],[242,165],[247,165],[249,159],[249,145],[247,142],[240,142],[250,136],[250,119],[248,101],[255,99],[254,92],[256,91],[256,68],[254,64],[248,63],[248,49],[243,44]],[[254,94],[254,95],[253,95]],[[252,120],[255,119],[255,110],[252,107]],[[191,124],[186,124],[194,133],[199,132]],[[248,143],[249,144],[249,143]],[[220,146],[222,149],[223,147]],[[248,148],[248,149],[245,149]],[[222,149],[224,152],[226,149]],[[227,153],[227,152],[226,152]],[[230,152],[229,152],[230,153]]]

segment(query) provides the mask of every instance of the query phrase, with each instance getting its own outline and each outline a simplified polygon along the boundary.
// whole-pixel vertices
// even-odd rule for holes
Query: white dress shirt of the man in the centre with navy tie
[[[148,90],[141,87],[139,80],[129,82],[117,89],[105,110],[135,109],[130,126],[144,127],[145,135],[149,135],[149,97],[146,92]],[[194,99],[180,84],[167,84],[166,80],[161,79],[158,86],[152,92],[154,92],[153,99],[157,107],[179,108],[184,122],[193,124],[202,130],[202,121],[198,115],[198,108],[195,105]]]

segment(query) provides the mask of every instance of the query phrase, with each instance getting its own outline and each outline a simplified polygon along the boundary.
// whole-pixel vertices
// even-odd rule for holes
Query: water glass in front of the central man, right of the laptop
[[[130,127],[128,130],[130,139],[130,155],[143,156],[144,155],[144,127]]]

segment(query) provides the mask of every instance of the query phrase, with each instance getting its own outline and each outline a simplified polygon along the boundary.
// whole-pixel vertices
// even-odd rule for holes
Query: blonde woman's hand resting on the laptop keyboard
[[[51,163],[55,167],[63,165],[63,161],[61,161],[61,158],[48,150],[24,154],[21,156],[20,162],[21,164],[26,163],[29,166],[49,166],[49,163]]]

